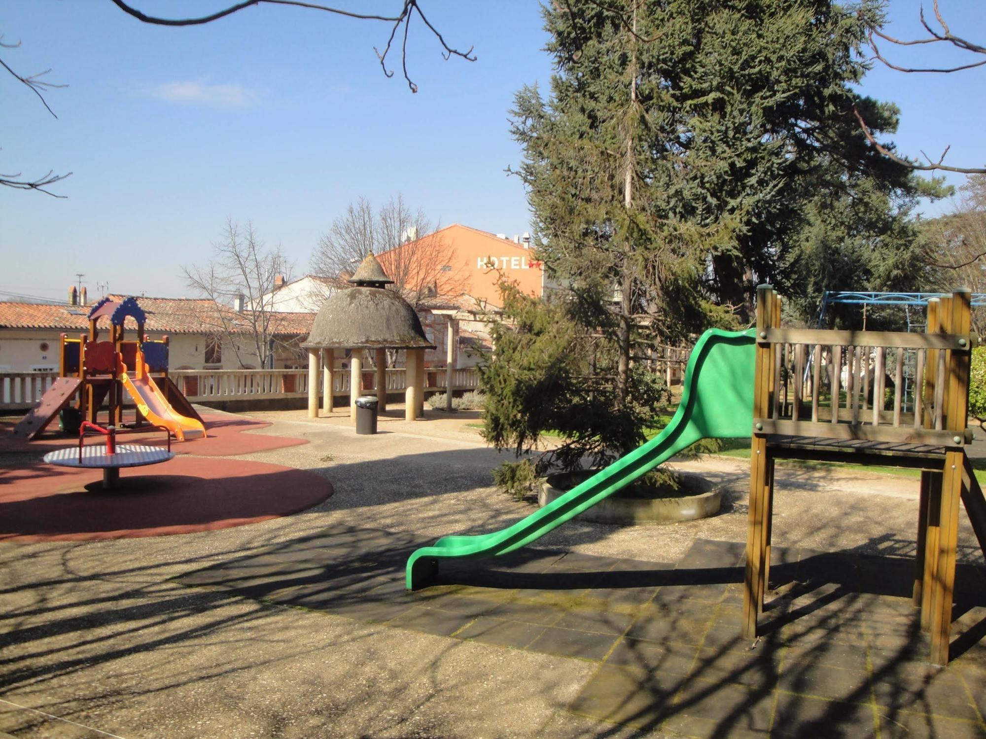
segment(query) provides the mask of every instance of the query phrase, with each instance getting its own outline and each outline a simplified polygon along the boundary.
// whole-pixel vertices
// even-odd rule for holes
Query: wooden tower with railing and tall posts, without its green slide
[[[932,299],[925,333],[829,331],[782,327],[780,297],[757,289],[744,637],[757,636],[769,577],[774,462],[910,467],[922,471],[914,604],[931,660],[949,661],[959,500],[986,554],[986,499],[965,455],[969,301]]]

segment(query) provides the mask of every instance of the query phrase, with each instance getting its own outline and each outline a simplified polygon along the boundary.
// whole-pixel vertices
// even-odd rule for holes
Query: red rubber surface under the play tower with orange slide
[[[124,416],[126,421],[127,414]],[[132,419],[131,419],[132,420]],[[282,449],[286,446],[307,444],[306,438],[271,437],[265,434],[242,434],[241,432],[266,429],[270,424],[266,421],[254,421],[241,416],[205,415],[205,438],[176,441],[172,439],[172,451],[176,454],[199,454],[202,456],[228,457],[237,454],[250,454],[255,451]],[[87,437],[86,443],[96,443],[99,435]],[[147,433],[126,433],[116,437],[117,443],[148,444],[150,446],[165,446],[165,433],[161,430],[151,430]],[[0,452],[32,451],[56,449],[78,443],[79,437],[66,436],[58,432],[57,422],[48,427],[48,431],[34,441],[26,441],[14,436],[14,424],[0,424]]]

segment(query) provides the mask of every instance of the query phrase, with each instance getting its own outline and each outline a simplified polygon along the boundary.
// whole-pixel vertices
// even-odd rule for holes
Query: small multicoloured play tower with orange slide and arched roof
[[[100,341],[100,319],[109,323],[109,339]],[[126,318],[137,324],[136,340],[125,338]],[[133,298],[121,302],[104,298],[89,311],[89,332],[78,339],[61,335],[58,379],[14,429],[31,440],[76,398],[79,417],[98,423],[107,405],[107,426],[120,427],[125,393],[136,404],[135,424],[146,420],[183,441],[205,436],[202,419],[168,376],[168,337],[148,340],[146,315]],[[155,379],[155,377],[157,379]]]

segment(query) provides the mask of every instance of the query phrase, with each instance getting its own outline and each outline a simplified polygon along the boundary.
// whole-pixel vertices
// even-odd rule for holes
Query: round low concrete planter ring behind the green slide
[[[560,472],[548,475],[537,494],[537,503],[547,505],[565,495],[587,478],[587,472]],[[577,518],[598,523],[657,524],[707,518],[719,512],[722,490],[712,481],[693,472],[676,472],[685,495],[674,498],[649,497],[646,494],[617,491]],[[690,494],[690,495],[689,495]]]

